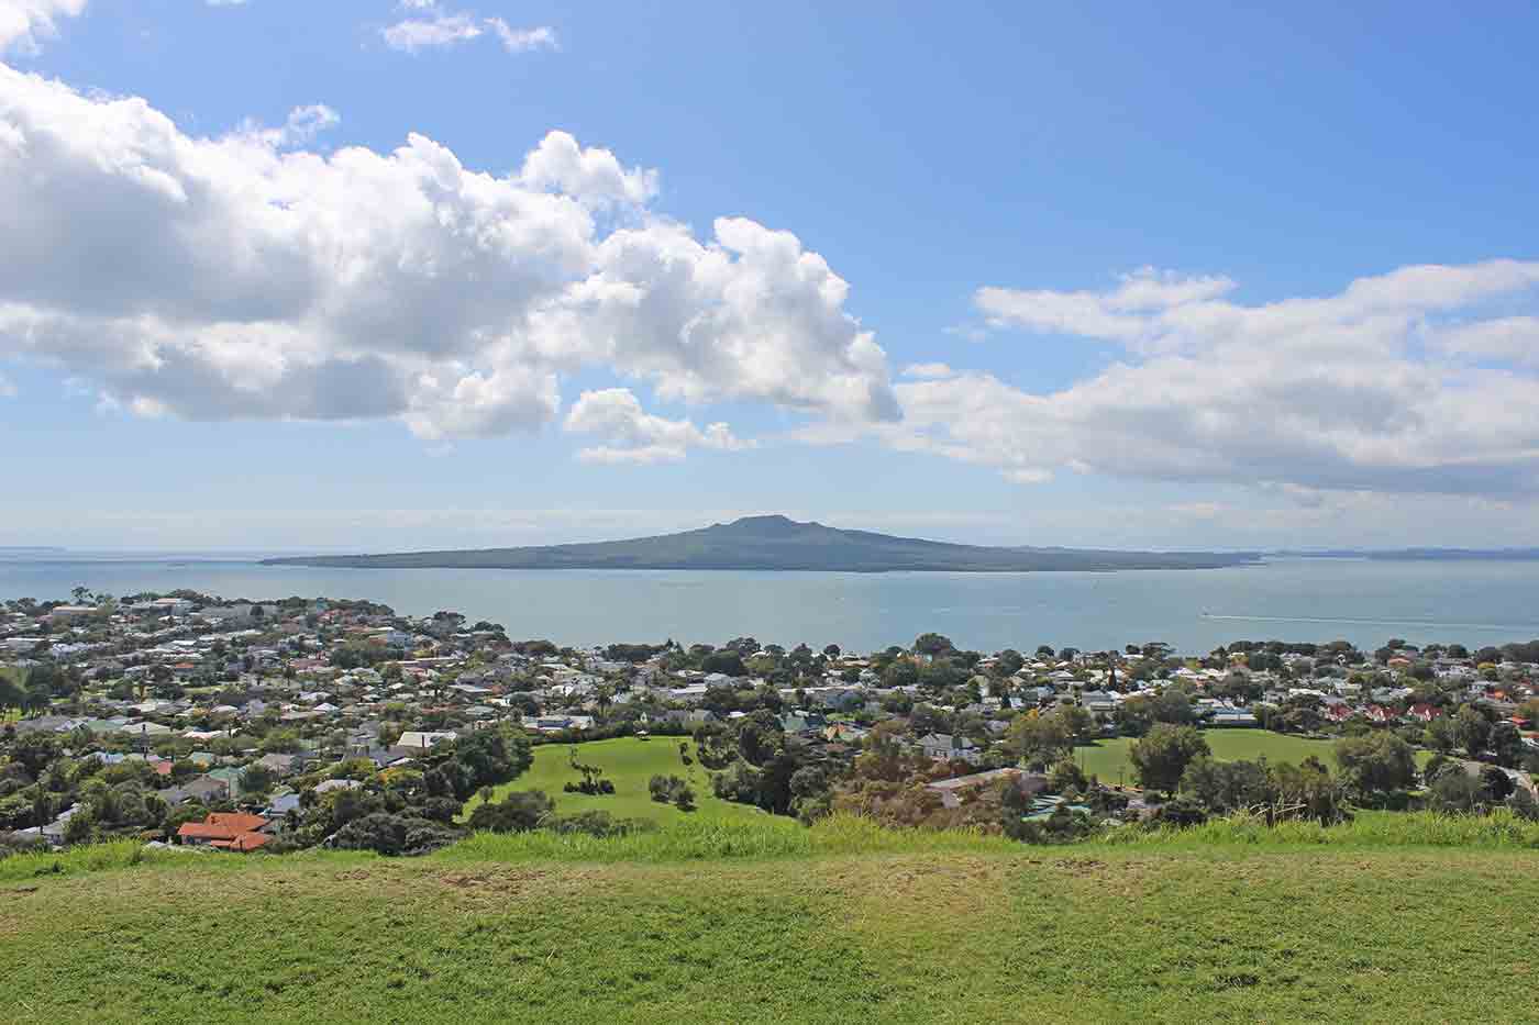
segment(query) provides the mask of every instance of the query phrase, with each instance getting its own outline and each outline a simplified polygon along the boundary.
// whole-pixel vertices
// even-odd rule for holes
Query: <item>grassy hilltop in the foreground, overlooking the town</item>
[[[836,822],[774,833],[800,853],[770,859],[599,863],[522,837],[416,860],[166,854],[0,882],[0,1017],[1536,1020],[1533,851],[1359,842],[1377,822],[1313,846]],[[760,833],[643,842],[688,857]]]

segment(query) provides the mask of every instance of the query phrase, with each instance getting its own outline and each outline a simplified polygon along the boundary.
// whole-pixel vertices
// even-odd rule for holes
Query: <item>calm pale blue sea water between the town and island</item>
[[[6,559],[0,599],[192,588],[225,597],[292,594],[465,613],[512,637],[839,643],[877,649],[934,629],[979,651],[1103,649],[1163,640],[1210,651],[1237,639],[1377,646],[1539,637],[1539,562],[1285,559],[1231,569],[1139,573],[685,573],[314,569],[208,556]]]

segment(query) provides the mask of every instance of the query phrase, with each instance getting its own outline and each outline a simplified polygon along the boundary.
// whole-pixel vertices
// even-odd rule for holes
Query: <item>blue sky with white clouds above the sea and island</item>
[[[1539,8],[1236,8],[0,0],[0,545],[1539,545]]]

